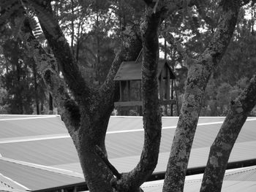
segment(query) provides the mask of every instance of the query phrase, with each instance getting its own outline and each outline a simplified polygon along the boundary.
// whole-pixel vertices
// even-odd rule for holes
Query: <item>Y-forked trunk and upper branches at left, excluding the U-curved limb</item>
[[[38,6],[37,3],[33,3],[33,5]],[[42,7],[39,11],[41,10]],[[39,51],[34,51],[37,54],[39,69],[78,151],[89,190],[92,192],[113,191],[110,183],[110,180],[113,179],[113,173],[102,161],[102,158],[95,153],[95,147],[100,147],[107,155],[105,134],[113,110],[113,101],[118,99],[118,84],[113,81],[113,77],[122,61],[135,60],[140,53],[141,44],[137,35],[138,28],[135,26],[128,29],[126,37],[128,43],[121,47],[116,55],[105,83],[99,90],[94,90],[82,79],[83,77],[72,58],[71,50],[58,23],[53,18],[45,20],[45,15],[52,15],[50,5],[45,8],[44,12],[39,13],[39,20],[45,37],[59,61],[64,80],[69,85],[75,100],[69,97],[65,83],[59,78],[56,69],[53,69],[56,66],[53,63],[56,61],[52,55],[45,53],[42,47],[39,48],[38,43],[30,42],[28,45],[34,45],[34,49],[39,48]]]

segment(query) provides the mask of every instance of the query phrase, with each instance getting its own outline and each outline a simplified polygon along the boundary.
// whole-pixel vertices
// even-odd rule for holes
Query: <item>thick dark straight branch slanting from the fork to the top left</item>
[[[89,100],[91,96],[91,88],[86,80],[83,79],[79,67],[72,55],[72,50],[65,39],[61,28],[53,16],[53,10],[50,4],[37,4],[30,1],[34,9],[37,11],[37,17],[55,57],[58,60],[64,79],[75,98],[80,101]]]

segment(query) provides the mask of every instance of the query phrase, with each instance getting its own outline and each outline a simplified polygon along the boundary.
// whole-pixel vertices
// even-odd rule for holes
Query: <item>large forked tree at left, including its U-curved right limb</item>
[[[146,96],[144,110],[145,113],[152,111],[156,114],[151,117],[146,117],[148,122],[144,123],[144,128],[146,129],[145,145],[138,166],[133,169],[132,172],[121,174],[121,178],[115,181],[109,166],[106,165],[105,161],[96,153],[95,148],[99,147],[99,149],[107,155],[105,150],[105,133],[108,127],[110,112],[113,110],[113,101],[118,96],[118,87],[113,81],[113,77],[121,61],[135,60],[137,57],[141,49],[140,35],[136,31],[138,28],[128,28],[128,30],[124,32],[125,43],[113,61],[107,80],[99,90],[95,90],[89,87],[82,79],[78,66],[76,66],[72,58],[71,50],[69,49],[66,39],[64,39],[64,35],[58,24],[53,21],[50,6],[48,5],[42,8],[41,5],[36,3],[33,3],[33,6],[39,12],[38,18],[42,30],[44,31],[45,37],[48,39],[50,47],[53,49],[53,53],[56,55],[57,61],[59,61],[61,72],[64,74],[64,80],[75,96],[75,100],[69,98],[67,92],[64,91],[63,82],[60,81],[58,74],[51,69],[51,65],[45,64],[46,67],[42,67],[43,77],[49,90],[53,94],[53,98],[59,100],[58,105],[62,110],[61,116],[64,116],[64,123],[75,143],[80,158],[80,164],[90,191],[113,191],[112,185],[115,184],[116,188],[119,188],[121,191],[139,191],[139,186],[146,180],[146,177],[153,172],[154,167],[157,165],[159,153],[161,118],[157,100],[156,71],[158,59],[158,40],[156,39],[159,18],[153,20],[154,24],[157,24],[157,26],[154,26],[156,28],[153,27],[150,29],[154,31],[153,45],[156,45],[153,47],[154,54],[151,55],[148,53],[148,50],[146,51],[146,56],[148,57],[149,54],[154,60],[151,62],[151,58],[148,58],[146,63],[144,62],[143,64],[147,70],[148,68],[153,70],[152,73],[145,70],[144,81],[148,86],[154,88],[153,90],[151,89],[151,93],[154,94],[147,94],[150,89],[146,89],[146,93],[144,93]],[[40,12],[42,12],[41,15]],[[151,33],[147,33],[145,39],[148,41],[150,37],[152,37]],[[145,42],[144,44],[146,44]],[[147,49],[150,48],[148,46],[150,45],[146,45]],[[37,48],[37,46],[34,48]],[[45,53],[42,54],[45,55]],[[47,57],[49,57],[49,55],[47,55]],[[41,57],[42,61],[44,59],[45,61],[53,62],[51,59]],[[153,78],[153,83],[150,82],[152,81],[151,78]],[[154,126],[156,123],[157,126]],[[138,180],[136,178],[138,178]]]

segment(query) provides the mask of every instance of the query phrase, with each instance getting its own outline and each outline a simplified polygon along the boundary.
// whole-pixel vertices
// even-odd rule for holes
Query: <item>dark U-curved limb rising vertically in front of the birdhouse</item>
[[[157,66],[159,58],[158,28],[160,12],[149,11],[141,24],[143,42],[142,98],[144,146],[138,165],[131,172],[122,174],[118,191],[139,191],[139,187],[157,166],[161,138],[161,112],[158,99]]]

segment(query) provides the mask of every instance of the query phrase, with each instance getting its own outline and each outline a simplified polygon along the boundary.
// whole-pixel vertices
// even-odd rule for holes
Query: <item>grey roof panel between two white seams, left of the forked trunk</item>
[[[42,165],[79,161],[71,138],[1,144],[0,152],[7,158]]]

